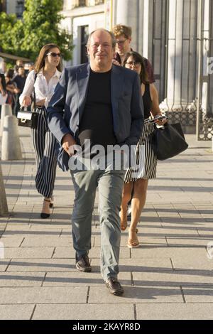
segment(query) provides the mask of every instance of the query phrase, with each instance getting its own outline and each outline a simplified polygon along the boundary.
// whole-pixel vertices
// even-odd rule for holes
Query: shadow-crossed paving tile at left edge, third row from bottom
[[[1,287],[41,286],[45,273],[0,273]]]

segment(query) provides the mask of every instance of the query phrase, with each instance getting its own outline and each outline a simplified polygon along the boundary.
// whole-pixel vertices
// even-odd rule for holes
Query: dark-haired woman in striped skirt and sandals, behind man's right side
[[[120,212],[121,230],[126,230],[128,203],[131,200],[131,225],[129,227],[127,246],[134,248],[139,246],[137,237],[138,230],[136,227],[146,203],[148,180],[156,177],[157,158],[151,148],[151,134],[154,131],[154,123],[151,124],[148,121],[151,119],[151,116],[161,116],[161,112],[158,103],[158,91],[155,85],[149,84],[148,82],[143,57],[133,51],[127,53],[124,60],[124,67],[136,71],[140,76],[145,119],[143,132],[136,147],[137,168],[134,170],[130,167],[126,171]],[[165,122],[166,118],[155,121],[158,125],[163,125]]]

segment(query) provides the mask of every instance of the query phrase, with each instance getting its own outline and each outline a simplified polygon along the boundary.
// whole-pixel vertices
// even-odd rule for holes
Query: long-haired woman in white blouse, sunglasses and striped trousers
[[[43,195],[41,218],[50,216],[50,207],[53,206],[53,188],[57,157],[55,155],[55,137],[48,128],[46,107],[53,96],[62,70],[60,48],[55,44],[47,44],[41,48],[35,70],[29,72],[20,104],[28,107],[31,104],[33,87],[35,89],[35,112],[38,114],[38,126],[32,129],[33,146],[37,173],[35,185],[38,193]]]

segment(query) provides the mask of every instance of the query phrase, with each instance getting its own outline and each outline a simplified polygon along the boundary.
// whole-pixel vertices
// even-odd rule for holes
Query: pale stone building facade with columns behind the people
[[[132,48],[153,64],[160,107],[185,132],[197,127],[198,139],[212,138],[212,0],[65,0],[62,14],[73,34],[73,65],[87,61],[85,42],[95,28],[131,26]]]

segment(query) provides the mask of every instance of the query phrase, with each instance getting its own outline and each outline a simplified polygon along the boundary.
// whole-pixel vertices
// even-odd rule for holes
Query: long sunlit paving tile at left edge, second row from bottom
[[[58,288],[0,288],[0,304],[86,303],[87,286]]]

